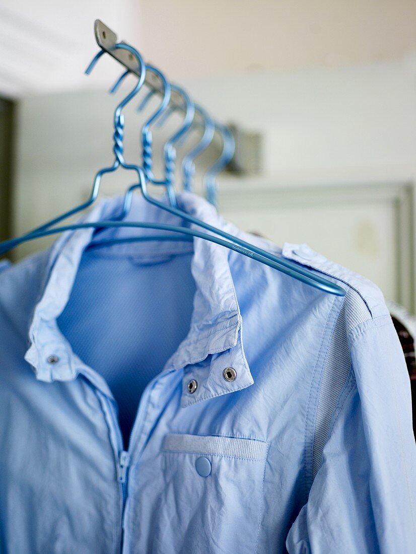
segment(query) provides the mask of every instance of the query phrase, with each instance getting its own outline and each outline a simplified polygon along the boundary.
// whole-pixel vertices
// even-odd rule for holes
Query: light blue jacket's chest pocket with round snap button
[[[166,435],[160,552],[254,554],[267,447],[255,439]]]

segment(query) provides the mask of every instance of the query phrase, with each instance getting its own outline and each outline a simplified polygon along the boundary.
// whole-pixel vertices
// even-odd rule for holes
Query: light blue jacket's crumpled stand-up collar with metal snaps
[[[114,218],[121,212],[122,200],[123,197],[104,198],[80,221],[88,223]],[[202,198],[184,192],[178,194],[177,202],[179,209],[193,217],[217,228],[224,227],[222,218]],[[176,216],[138,196],[133,198],[126,220],[183,224]],[[191,227],[201,230],[193,224]],[[69,381],[78,373],[84,373],[96,386],[112,396],[104,379],[75,355],[57,325],[57,318],[68,302],[81,256],[91,242],[93,232],[93,228],[68,231],[59,237],[50,250],[45,286],[34,307],[29,327],[30,346],[25,353],[25,360],[42,381]],[[100,240],[156,233],[158,231],[154,229],[110,228],[100,234]],[[158,253],[173,254],[179,252],[178,248],[181,248],[181,252],[184,249],[184,243],[165,241],[157,244]],[[243,350],[242,316],[228,263],[229,250],[197,237],[193,240],[193,247],[187,243],[186,247],[193,248],[191,270],[196,283],[191,326],[188,335],[165,365],[166,370],[186,368],[182,406],[253,384]],[[122,256],[134,252],[135,248],[140,248],[141,254],[147,252],[150,258],[157,255],[154,242],[121,243],[106,247],[106,251],[112,250],[112,254]],[[235,368],[237,377],[234,381],[229,382],[224,378],[225,367]],[[197,390],[189,393],[189,379],[196,377]]]

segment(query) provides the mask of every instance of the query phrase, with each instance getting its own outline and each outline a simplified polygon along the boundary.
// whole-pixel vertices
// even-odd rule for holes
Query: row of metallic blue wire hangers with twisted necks
[[[101,33],[101,37],[100,37]],[[217,191],[217,174],[228,164],[230,159],[233,156],[234,152],[234,140],[230,131],[222,124],[215,122],[212,117],[208,114],[203,107],[194,104],[189,95],[183,90],[180,86],[170,84],[166,79],[165,75],[154,67],[153,65],[146,64],[143,60],[141,54],[137,52],[130,44],[125,42],[116,42],[111,45],[111,48],[104,48],[102,42],[100,42],[99,37],[106,38],[106,34],[110,34],[111,29],[107,28],[102,22],[97,20],[95,22],[95,35],[97,42],[99,43],[101,50],[95,55],[94,59],[91,61],[90,65],[86,69],[86,74],[90,74],[94,69],[97,61],[104,55],[106,52],[110,53],[112,57],[124,63],[127,66],[126,71],[121,75],[119,80],[115,83],[112,92],[115,92],[122,81],[125,79],[127,74],[135,73],[137,76],[137,83],[135,87],[130,91],[127,96],[117,105],[114,112],[114,162],[111,166],[102,168],[96,173],[94,178],[93,187],[91,189],[90,198],[76,206],[75,208],[70,209],[69,211],[60,214],[59,216],[49,220],[48,222],[40,225],[39,227],[32,229],[30,232],[21,235],[20,237],[6,240],[0,243],[0,254],[6,253],[9,250],[15,248],[18,244],[26,242],[28,240],[34,240],[39,237],[44,237],[46,235],[61,233],[67,230],[82,229],[82,228],[94,228],[93,239],[91,240],[90,247],[103,246],[109,243],[118,243],[118,242],[138,242],[140,240],[193,240],[193,237],[199,237],[210,242],[217,243],[222,245],[225,248],[234,250],[240,254],[253,258],[254,260],[259,261],[265,265],[270,266],[276,270],[282,271],[283,273],[290,275],[292,278],[302,281],[307,285],[313,286],[316,289],[325,291],[326,293],[334,294],[337,296],[344,296],[345,290],[340,286],[332,283],[331,281],[322,278],[319,275],[316,275],[312,271],[295,264],[294,262],[279,258],[270,252],[267,252],[264,249],[256,247],[254,244],[250,244],[244,241],[241,238],[235,237],[232,234],[225,232],[224,230],[218,229],[209,225],[202,220],[194,218],[187,214],[186,212],[178,209],[176,203],[176,193],[173,186],[174,180],[174,167],[176,162],[176,150],[175,145],[178,141],[181,141],[186,137],[188,131],[199,119],[201,121],[203,132],[202,136],[199,139],[198,143],[193,146],[193,148],[183,157],[182,160],[182,178],[183,178],[183,188],[187,191],[192,191],[192,182],[193,182],[193,173],[194,173],[194,160],[201,153],[210,142],[213,140],[215,132],[218,132],[222,136],[223,148],[218,160],[214,163],[212,167],[204,175],[204,191],[208,201],[215,204],[216,191]],[[116,38],[116,35],[112,33]],[[137,63],[134,71],[131,70],[131,65],[127,65],[124,62],[119,53],[124,52],[128,54],[129,60],[133,59]],[[137,93],[142,89],[145,84],[146,75],[149,73],[156,76],[160,83],[158,90],[161,92],[162,100],[157,110],[153,112],[150,118],[147,119],[145,124],[141,127],[141,143],[142,143],[142,164],[139,166],[135,163],[127,163],[124,159],[124,127],[125,127],[125,117],[123,110],[125,106],[135,98]],[[170,100],[172,97],[172,92],[176,95],[176,104],[177,99],[180,97],[182,99],[182,111],[184,112],[184,118],[182,121],[181,127],[172,135],[163,146],[163,160],[164,160],[164,178],[156,179],[152,171],[152,130],[151,127],[158,122],[163,124],[163,121],[166,121],[167,117],[172,112],[170,107]],[[155,94],[155,89],[151,89],[146,95],[145,99],[141,103],[141,108],[145,107],[147,102],[150,100],[151,96]],[[93,204],[99,194],[101,179],[107,173],[112,173],[118,170],[119,168],[124,168],[126,171],[131,171],[135,173],[136,182],[130,186],[124,197],[124,204],[121,210],[121,213],[114,219],[103,220],[99,222],[89,222],[89,223],[75,223],[68,225],[56,225],[60,222],[63,222],[65,219],[68,219],[74,214],[84,211],[86,208],[90,207]],[[167,202],[159,201],[156,198],[153,198],[148,193],[147,184],[152,183],[157,186],[165,187],[167,192]],[[181,218],[184,222],[191,223],[198,228],[204,230],[198,230],[194,227],[185,227],[182,225],[170,225],[162,223],[143,223],[143,222],[127,222],[125,217],[130,211],[132,194],[135,189],[140,189],[143,197],[147,202],[157,206],[160,209],[163,209],[167,212],[170,212],[174,216]],[[97,240],[97,236],[100,233],[110,227],[132,227],[132,228],[146,228],[146,229],[155,229],[163,231],[166,233],[177,233],[176,235],[166,234],[166,235],[145,235],[142,237],[125,237],[122,239],[112,239],[112,240]],[[208,233],[206,232],[208,231]],[[179,235],[179,236],[178,236]]]

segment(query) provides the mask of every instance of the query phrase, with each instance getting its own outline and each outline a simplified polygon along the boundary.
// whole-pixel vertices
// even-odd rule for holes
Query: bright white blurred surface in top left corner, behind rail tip
[[[98,47],[94,20],[108,22],[125,40],[137,40],[136,3],[130,0],[0,0],[0,94],[24,96],[109,86],[102,60],[84,70]],[[116,65],[113,63],[112,65]],[[115,70],[115,75],[120,69]],[[88,83],[90,81],[90,83]]]

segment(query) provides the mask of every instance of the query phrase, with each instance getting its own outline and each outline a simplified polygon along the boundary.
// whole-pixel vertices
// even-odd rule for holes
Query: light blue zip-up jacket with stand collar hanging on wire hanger
[[[91,229],[4,269],[0,551],[414,552],[409,377],[379,289],[178,206],[346,296],[199,238],[88,249]],[[181,223],[142,198],[128,219]]]

